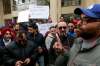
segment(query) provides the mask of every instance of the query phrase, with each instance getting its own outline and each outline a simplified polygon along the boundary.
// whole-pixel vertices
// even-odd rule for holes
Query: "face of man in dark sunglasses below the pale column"
[[[59,22],[57,28],[58,28],[59,35],[61,35],[61,36],[66,35],[67,24],[65,22]]]

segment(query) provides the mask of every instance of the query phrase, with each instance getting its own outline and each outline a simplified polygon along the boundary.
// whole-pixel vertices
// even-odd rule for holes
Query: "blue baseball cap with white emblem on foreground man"
[[[77,15],[85,14],[91,18],[100,18],[100,4],[90,5],[88,8],[76,8],[74,13]]]

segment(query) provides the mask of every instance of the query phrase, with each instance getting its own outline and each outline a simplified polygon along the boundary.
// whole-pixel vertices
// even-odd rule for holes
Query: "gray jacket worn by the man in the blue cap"
[[[95,46],[87,51],[80,51],[83,39],[76,39],[69,54],[68,66],[100,66],[100,38],[95,41]]]

